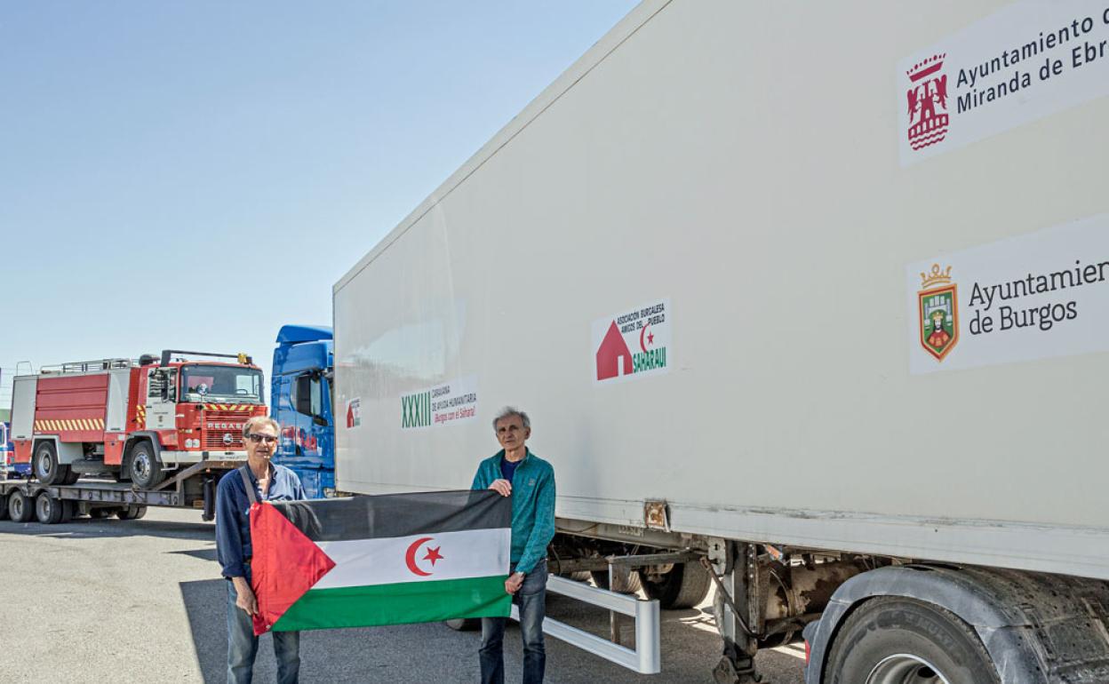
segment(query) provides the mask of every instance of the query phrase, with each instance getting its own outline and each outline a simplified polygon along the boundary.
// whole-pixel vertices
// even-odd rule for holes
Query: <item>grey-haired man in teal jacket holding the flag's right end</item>
[[[520,609],[523,684],[543,681],[547,652],[543,614],[547,601],[547,544],[554,537],[554,469],[527,448],[531,420],[506,408],[492,421],[503,447],[478,466],[470,489],[492,489],[512,498],[512,553],[505,591]],[[505,617],[481,619],[481,682],[505,681]]]

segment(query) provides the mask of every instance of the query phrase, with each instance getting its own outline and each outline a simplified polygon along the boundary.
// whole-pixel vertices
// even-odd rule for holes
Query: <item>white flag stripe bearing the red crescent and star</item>
[[[416,544],[427,537],[431,539]],[[335,568],[322,576],[312,589],[435,582],[508,574],[512,530],[487,528],[465,532],[316,543],[335,561]],[[437,554],[441,558],[434,559]],[[417,570],[430,574],[413,572],[408,566],[409,555]]]

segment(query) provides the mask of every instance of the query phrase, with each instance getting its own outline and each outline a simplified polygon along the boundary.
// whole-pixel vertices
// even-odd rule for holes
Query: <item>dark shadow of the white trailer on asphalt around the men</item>
[[[179,586],[204,682],[224,682],[226,580],[182,582]],[[604,633],[608,627],[607,613],[564,596],[548,596],[548,614],[591,632]],[[704,624],[709,620],[705,613],[695,609],[663,612],[663,671],[658,675],[634,674],[548,639],[546,681],[550,684],[711,683],[711,668],[720,659],[720,637],[714,632],[691,626],[691,622]],[[301,682],[477,682],[479,644],[479,632],[455,632],[441,623],[304,632],[301,634]],[[505,634],[506,682],[520,681],[522,655],[520,632],[512,623]],[[764,651],[759,654],[759,662],[761,668],[771,673],[764,680],[769,684],[801,682],[801,665],[790,655]],[[255,682],[276,681],[269,635],[260,640],[254,674]]]

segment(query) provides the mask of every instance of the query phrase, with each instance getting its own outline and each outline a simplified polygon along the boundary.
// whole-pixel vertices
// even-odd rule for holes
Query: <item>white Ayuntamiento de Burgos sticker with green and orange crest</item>
[[[1109,350],[1109,214],[906,269],[914,374]]]

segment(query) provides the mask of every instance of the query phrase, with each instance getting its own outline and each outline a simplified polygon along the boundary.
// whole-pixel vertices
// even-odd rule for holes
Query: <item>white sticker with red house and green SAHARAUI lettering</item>
[[[593,321],[593,384],[642,379],[674,363],[670,299],[655,299]]]

